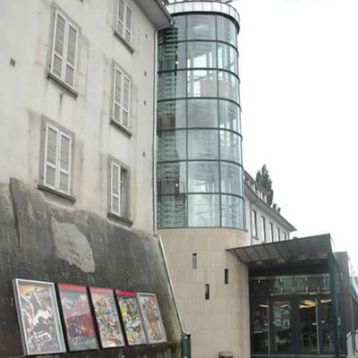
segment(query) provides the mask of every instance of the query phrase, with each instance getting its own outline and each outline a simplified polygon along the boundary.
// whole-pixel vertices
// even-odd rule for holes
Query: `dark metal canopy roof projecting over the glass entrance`
[[[261,243],[228,249],[249,268],[274,267],[287,263],[327,260],[332,253],[329,234],[294,238],[277,243]]]

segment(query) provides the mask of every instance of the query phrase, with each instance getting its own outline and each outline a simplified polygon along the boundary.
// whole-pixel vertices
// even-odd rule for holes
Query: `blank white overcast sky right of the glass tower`
[[[358,0],[237,0],[243,165],[358,271]]]

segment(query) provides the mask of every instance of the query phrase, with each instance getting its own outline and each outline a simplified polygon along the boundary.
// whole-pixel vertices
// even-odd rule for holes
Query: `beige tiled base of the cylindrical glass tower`
[[[193,358],[232,351],[250,356],[247,268],[226,249],[248,245],[246,232],[224,228],[160,230],[185,328],[192,333]],[[198,268],[192,268],[192,253]],[[229,284],[224,283],[229,268]],[[204,285],[210,286],[205,300]]]

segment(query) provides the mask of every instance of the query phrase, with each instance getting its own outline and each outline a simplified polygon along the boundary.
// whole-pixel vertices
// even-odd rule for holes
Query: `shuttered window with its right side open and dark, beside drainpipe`
[[[110,212],[119,217],[128,217],[128,170],[115,161],[110,161]]]

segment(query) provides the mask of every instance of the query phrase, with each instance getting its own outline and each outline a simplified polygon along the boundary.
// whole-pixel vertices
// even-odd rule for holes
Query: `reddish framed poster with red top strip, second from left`
[[[63,284],[58,284],[57,287],[68,349],[72,352],[98,349],[86,287]]]

